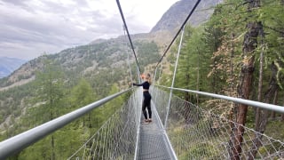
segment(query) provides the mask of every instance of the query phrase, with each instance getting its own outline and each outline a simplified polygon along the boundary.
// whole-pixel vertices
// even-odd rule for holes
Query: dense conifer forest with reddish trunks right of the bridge
[[[226,0],[218,4],[206,24],[185,28],[175,87],[283,106],[283,27],[282,0]],[[177,46],[172,52],[177,52]],[[175,54],[170,54],[168,60],[173,63]],[[171,76],[164,72],[160,84],[169,86]],[[284,115],[225,100],[176,93],[210,112],[284,140]],[[234,135],[240,135],[235,141],[242,140],[241,127]],[[259,139],[256,136],[256,146],[251,148],[261,146]]]

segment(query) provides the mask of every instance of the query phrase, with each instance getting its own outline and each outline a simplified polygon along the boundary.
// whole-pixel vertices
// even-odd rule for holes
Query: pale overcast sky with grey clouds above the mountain
[[[120,0],[130,34],[146,33],[178,0]],[[115,0],[0,0],[0,57],[31,60],[123,34]]]

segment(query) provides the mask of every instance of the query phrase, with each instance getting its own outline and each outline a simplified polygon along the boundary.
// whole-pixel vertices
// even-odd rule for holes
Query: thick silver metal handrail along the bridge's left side
[[[59,130],[63,126],[73,122],[75,119],[89,113],[92,109],[98,108],[99,106],[105,104],[107,101],[113,100],[115,97],[118,97],[125,92],[129,92],[132,89],[133,87],[122,92],[114,93],[113,95],[110,95],[101,100],[97,100],[83,108],[76,109],[73,112],[59,116],[58,118],[53,119],[45,124],[36,126],[35,128],[28,130],[27,132],[22,132],[8,140],[1,141],[0,159],[5,159],[8,156],[11,156],[13,153],[27,148],[37,140],[43,139],[43,137],[49,135],[51,132]]]

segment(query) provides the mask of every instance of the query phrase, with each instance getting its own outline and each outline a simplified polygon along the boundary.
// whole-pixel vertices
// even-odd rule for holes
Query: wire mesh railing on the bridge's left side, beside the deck
[[[113,116],[68,159],[134,159],[142,91],[136,90]]]

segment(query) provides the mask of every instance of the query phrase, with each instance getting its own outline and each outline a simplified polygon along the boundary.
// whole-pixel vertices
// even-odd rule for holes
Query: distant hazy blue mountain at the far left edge
[[[0,78],[9,76],[14,70],[20,68],[27,60],[0,57]]]

